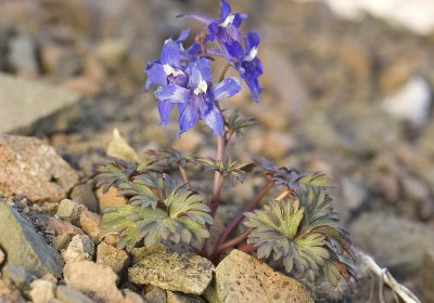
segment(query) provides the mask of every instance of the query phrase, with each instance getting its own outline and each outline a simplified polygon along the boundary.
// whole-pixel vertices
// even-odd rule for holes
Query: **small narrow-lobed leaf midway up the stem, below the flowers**
[[[225,161],[214,160],[212,158],[197,158],[196,161],[204,166],[205,171],[218,171],[225,177],[229,177],[232,185],[237,185],[238,182],[243,183],[246,170],[248,170],[251,162],[240,163],[233,161],[231,158]]]

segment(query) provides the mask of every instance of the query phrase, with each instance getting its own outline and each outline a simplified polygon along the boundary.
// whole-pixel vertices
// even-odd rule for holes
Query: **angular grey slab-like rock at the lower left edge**
[[[41,276],[51,273],[61,276],[61,255],[22,218],[16,210],[0,201],[0,246],[8,255],[7,264],[21,265]]]

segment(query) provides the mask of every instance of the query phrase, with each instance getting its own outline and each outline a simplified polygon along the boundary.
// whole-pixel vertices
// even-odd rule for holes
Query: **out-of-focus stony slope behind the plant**
[[[231,4],[260,34],[265,91],[260,104],[247,90],[225,102],[259,121],[229,153],[332,175],[354,242],[434,302],[434,1]],[[82,175],[114,128],[138,149],[214,155],[206,128],[177,139],[175,117],[157,127],[142,90],[165,39],[201,29],[176,18],[184,11],[218,16],[219,1],[0,0],[0,132],[46,140]]]

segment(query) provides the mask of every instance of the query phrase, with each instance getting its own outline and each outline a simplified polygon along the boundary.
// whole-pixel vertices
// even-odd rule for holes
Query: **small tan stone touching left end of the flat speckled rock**
[[[97,263],[108,265],[119,277],[122,277],[127,269],[129,262],[129,255],[125,250],[118,250],[106,242],[101,242],[98,246]]]

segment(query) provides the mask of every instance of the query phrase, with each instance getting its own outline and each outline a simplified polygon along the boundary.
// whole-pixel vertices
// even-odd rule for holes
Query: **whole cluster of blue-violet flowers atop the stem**
[[[229,77],[213,83],[209,61],[214,56],[225,57],[228,65],[234,68],[248,85],[253,98],[257,102],[263,90],[258,82],[258,77],[263,74],[263,64],[256,57],[259,35],[252,30],[243,37],[241,43],[239,27],[247,15],[232,13],[226,0],[221,0],[219,18],[192,13],[179,16],[195,18],[203,23],[205,28],[187,49],[182,43],[189,36],[188,29],[183,30],[178,39],[166,40],[159,58],[145,67],[145,89],[158,85],[155,97],[161,124],[169,122],[171,109],[177,105],[179,134],[190,130],[202,119],[213,134],[222,137],[225,119],[218,101],[240,92],[241,81],[237,77]],[[213,41],[217,42],[218,49],[208,47],[208,42]]]

